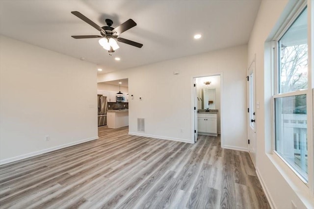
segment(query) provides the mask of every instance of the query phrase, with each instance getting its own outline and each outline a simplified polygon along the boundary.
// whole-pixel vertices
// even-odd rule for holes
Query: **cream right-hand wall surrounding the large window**
[[[296,1],[262,1],[248,44],[247,67],[256,55],[256,100],[260,102],[260,109],[256,109],[256,168],[272,206],[278,209],[291,209],[291,201],[298,209],[314,208],[313,193],[287,166],[284,167],[282,161],[276,161],[276,156],[271,154],[272,77],[267,64],[270,57],[265,52],[265,41],[287,19],[293,2]]]

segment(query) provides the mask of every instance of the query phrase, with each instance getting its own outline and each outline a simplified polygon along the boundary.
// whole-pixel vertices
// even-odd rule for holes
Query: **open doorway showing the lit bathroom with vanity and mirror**
[[[199,135],[221,136],[222,73],[193,77],[194,142]],[[204,118],[203,118],[204,117]]]

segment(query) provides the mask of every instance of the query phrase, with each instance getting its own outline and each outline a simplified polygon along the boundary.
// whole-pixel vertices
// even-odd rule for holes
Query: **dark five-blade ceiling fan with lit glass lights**
[[[93,21],[89,20],[87,17],[82,15],[78,11],[71,12],[75,16],[77,16],[82,21],[90,24],[94,28],[96,28],[98,31],[100,31],[99,35],[87,35],[87,36],[72,36],[75,39],[90,39],[90,38],[101,38],[99,40],[99,44],[103,46],[106,50],[108,50],[109,53],[114,52],[117,48],[119,48],[116,40],[118,42],[122,42],[131,46],[136,46],[141,48],[143,45],[137,42],[133,42],[128,39],[120,38],[118,37],[121,33],[125,32],[126,30],[129,30],[130,28],[134,27],[136,23],[129,19],[126,22],[120,24],[116,28],[111,27],[113,21],[110,19],[106,19],[105,22],[107,23],[107,26],[100,27],[98,24],[94,23]]]

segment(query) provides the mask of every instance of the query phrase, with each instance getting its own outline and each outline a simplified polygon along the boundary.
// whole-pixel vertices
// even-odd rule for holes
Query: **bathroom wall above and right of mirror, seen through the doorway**
[[[205,81],[210,81],[209,87],[204,84]],[[209,89],[215,89],[216,96],[215,96],[215,109],[218,110],[217,114],[217,132],[218,134],[221,133],[220,131],[220,76],[219,75],[213,75],[209,77],[201,77],[201,78],[196,78],[196,83],[197,83],[197,89],[204,89],[204,88],[209,88]],[[203,101],[204,102],[204,101]]]

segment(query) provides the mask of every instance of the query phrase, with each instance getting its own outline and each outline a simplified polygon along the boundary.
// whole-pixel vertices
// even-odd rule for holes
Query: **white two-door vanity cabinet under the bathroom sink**
[[[199,134],[217,137],[217,114],[197,114]]]

